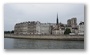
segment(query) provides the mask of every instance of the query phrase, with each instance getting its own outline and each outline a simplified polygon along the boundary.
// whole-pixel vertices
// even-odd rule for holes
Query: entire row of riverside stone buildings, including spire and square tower
[[[77,25],[77,19],[71,18],[67,20],[67,24],[59,23],[58,14],[56,23],[40,23],[39,21],[28,21],[17,23],[14,27],[14,34],[64,34],[66,28],[72,33],[84,33],[84,22]]]

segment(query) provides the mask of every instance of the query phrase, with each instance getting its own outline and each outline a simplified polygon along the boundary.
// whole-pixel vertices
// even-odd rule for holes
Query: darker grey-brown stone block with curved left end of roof
[[[17,23],[14,27],[14,34],[35,34],[36,22]]]

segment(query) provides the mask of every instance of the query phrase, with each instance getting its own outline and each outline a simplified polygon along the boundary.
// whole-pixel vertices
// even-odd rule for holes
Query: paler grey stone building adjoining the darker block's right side
[[[37,34],[50,34],[50,24],[37,22],[36,33]]]

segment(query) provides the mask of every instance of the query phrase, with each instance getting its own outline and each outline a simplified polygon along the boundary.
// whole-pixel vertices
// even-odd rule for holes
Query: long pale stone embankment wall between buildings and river
[[[14,35],[14,34],[4,34],[4,38],[84,41],[84,36],[70,36],[70,35]]]

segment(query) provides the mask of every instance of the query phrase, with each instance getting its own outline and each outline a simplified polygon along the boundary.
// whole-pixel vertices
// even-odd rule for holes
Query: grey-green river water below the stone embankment
[[[4,38],[4,49],[84,49],[84,41]]]

